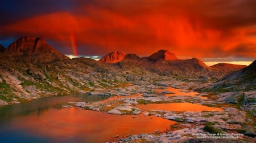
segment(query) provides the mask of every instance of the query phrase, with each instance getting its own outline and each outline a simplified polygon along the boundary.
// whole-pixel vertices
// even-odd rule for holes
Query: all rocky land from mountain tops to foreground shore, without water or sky
[[[158,116],[177,122],[167,131],[156,129],[154,133],[118,136],[113,141],[220,142],[233,137],[235,142],[253,142],[256,127],[255,65],[254,61],[248,67],[225,63],[208,67],[197,58],[177,59],[167,50],[143,58],[115,51],[99,61],[69,59],[43,38],[20,38],[6,50],[1,50],[0,105],[77,92],[122,96],[105,102],[68,103],[64,107],[132,114],[135,119],[137,115]],[[170,87],[181,89],[185,94],[171,96],[172,92],[167,90]],[[193,91],[199,93],[189,96]],[[219,110],[176,111],[139,107],[164,103],[191,103]],[[210,138],[212,134],[206,137],[207,132],[224,135]]]

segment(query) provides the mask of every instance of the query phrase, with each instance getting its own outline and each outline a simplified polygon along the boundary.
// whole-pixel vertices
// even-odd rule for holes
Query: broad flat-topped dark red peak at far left
[[[13,57],[26,56],[44,61],[52,59],[68,59],[68,57],[54,49],[41,37],[19,38],[9,45],[3,54],[11,55]]]

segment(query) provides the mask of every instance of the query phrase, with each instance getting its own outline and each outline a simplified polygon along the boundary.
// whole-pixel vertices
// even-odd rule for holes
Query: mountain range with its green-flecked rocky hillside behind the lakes
[[[208,67],[197,58],[177,59],[174,53],[167,50],[159,50],[143,58],[114,51],[99,61],[69,59],[47,44],[44,38],[19,38],[7,49],[0,46],[0,53],[0,100],[7,103],[105,89],[124,83],[154,83],[163,77],[206,82],[232,73],[221,82],[255,73],[255,66],[221,63]],[[234,74],[237,78],[232,79]],[[253,78],[250,82],[255,83]]]

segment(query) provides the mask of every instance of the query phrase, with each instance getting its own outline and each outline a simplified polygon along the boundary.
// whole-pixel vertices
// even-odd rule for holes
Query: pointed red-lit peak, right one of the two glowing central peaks
[[[175,60],[178,59],[176,55],[168,50],[159,50],[158,52],[150,55],[151,59]]]

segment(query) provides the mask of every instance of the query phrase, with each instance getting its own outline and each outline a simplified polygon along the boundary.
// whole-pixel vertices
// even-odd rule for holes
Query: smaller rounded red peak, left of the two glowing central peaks
[[[123,58],[125,58],[125,53],[122,51],[113,51],[112,53],[102,57],[99,61],[102,63],[118,63]]]

